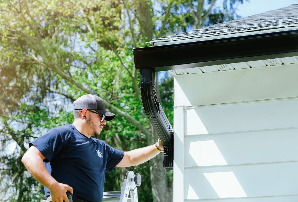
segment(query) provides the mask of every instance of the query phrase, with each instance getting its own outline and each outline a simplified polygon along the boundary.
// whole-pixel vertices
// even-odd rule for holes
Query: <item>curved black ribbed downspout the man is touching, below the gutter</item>
[[[150,123],[162,141],[164,150],[163,167],[166,170],[173,170],[174,142],[173,128],[167,119],[156,96],[156,73],[154,69],[140,70],[140,90],[142,104]]]

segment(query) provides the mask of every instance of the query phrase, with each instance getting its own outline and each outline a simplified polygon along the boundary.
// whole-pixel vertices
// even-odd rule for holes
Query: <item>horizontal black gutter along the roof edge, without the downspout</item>
[[[134,48],[136,69],[165,71],[298,55],[298,29]]]

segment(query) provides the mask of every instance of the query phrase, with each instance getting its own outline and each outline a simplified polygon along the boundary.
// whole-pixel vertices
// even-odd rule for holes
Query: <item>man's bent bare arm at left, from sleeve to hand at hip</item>
[[[55,202],[68,201],[66,191],[73,194],[72,187],[56,181],[46,170],[44,165],[44,155],[32,145],[22,158],[22,163],[28,169],[29,173],[43,186],[49,188],[52,200]]]

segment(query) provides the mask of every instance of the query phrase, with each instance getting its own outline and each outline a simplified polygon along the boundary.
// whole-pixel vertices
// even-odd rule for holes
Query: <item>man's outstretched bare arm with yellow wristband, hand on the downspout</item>
[[[162,142],[160,141],[160,139],[158,139],[156,146],[159,150],[162,150]],[[123,159],[119,162],[117,167],[130,167],[139,165],[152,159],[159,153],[160,152],[155,149],[155,144],[131,151],[125,151]]]

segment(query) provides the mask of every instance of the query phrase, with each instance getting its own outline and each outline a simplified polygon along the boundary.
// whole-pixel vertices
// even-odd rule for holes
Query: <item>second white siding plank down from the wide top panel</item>
[[[215,145],[228,165],[297,161],[297,144],[298,127],[187,136],[184,138],[184,167],[223,165]],[[192,148],[196,145],[204,149]],[[206,159],[211,152],[213,158]]]

